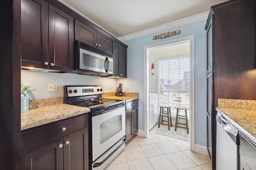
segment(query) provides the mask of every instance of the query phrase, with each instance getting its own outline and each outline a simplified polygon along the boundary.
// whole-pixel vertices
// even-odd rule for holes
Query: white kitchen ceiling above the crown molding
[[[227,0],[59,0],[115,37],[203,12]]]

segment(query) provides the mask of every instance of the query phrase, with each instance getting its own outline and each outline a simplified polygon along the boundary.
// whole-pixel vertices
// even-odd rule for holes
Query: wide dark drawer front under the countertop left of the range
[[[65,131],[62,127],[66,128]],[[21,133],[21,152],[25,153],[88,127],[88,114]]]

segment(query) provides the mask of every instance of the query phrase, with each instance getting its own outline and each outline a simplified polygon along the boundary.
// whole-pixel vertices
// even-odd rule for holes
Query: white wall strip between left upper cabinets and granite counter
[[[28,93],[30,100],[63,97],[63,86],[65,85],[101,85],[104,93],[115,92],[118,85],[115,78],[29,70],[21,70],[21,82],[28,82],[30,86],[36,88],[36,91]],[[57,83],[58,92],[47,92],[48,83]],[[112,89],[109,89],[109,84],[112,84]],[[124,85],[124,92],[126,90],[127,87]]]

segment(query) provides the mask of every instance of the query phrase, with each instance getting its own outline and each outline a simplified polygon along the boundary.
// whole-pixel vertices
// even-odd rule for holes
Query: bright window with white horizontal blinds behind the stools
[[[190,106],[189,55],[158,59],[158,94],[160,105]],[[176,115],[176,109],[171,112]]]

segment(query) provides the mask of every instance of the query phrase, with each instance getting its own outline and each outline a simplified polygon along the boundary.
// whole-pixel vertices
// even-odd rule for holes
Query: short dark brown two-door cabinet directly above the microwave
[[[75,20],[75,39],[112,54],[112,40],[78,20]]]

